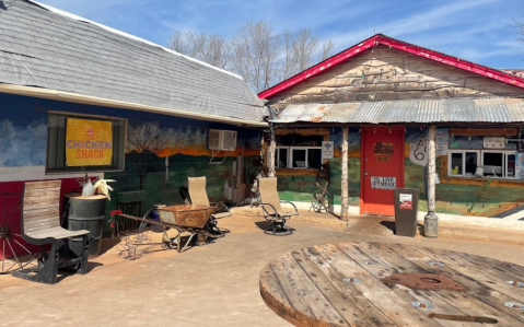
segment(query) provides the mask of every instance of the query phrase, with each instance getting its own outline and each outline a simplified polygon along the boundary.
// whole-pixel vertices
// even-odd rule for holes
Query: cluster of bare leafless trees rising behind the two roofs
[[[247,22],[232,39],[220,35],[176,32],[170,47],[175,51],[242,75],[255,92],[310,68],[314,58],[331,56],[333,42],[322,44],[311,28],[276,33],[265,21]]]

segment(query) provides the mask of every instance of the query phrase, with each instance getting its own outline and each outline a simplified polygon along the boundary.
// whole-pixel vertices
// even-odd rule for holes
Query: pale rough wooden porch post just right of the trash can
[[[436,237],[439,235],[439,218],[435,214],[435,147],[436,126],[432,125],[428,130],[428,214],[424,217],[424,236]]]

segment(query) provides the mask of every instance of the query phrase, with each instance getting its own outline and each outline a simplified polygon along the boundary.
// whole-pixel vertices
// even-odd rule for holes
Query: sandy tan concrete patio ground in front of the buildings
[[[315,244],[418,244],[524,265],[520,245],[401,237],[386,232],[387,224],[347,229],[293,220],[293,235],[272,236],[260,222],[235,214],[219,222],[231,233],[212,244],[182,254],[155,247],[137,260],[118,258],[106,240],[108,250],[86,276],[65,276],[53,287],[0,276],[0,326],[290,326],[263,302],[258,276],[271,259]]]

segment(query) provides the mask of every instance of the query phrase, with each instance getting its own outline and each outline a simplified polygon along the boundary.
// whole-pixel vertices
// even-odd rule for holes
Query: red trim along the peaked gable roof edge
[[[296,84],[300,84],[313,77],[316,77],[342,62],[345,62],[346,60],[354,57],[354,56],[358,56],[359,54],[368,50],[369,48],[373,47],[373,46],[376,46],[376,45],[385,45],[385,46],[389,46],[392,48],[395,48],[395,49],[398,49],[398,50],[401,50],[401,51],[406,51],[406,52],[409,52],[409,54],[414,54],[416,56],[419,56],[419,57],[422,57],[422,58],[427,58],[427,59],[430,59],[430,60],[433,60],[433,61],[436,61],[436,62],[441,62],[441,63],[444,63],[444,65],[449,65],[449,66],[453,66],[453,67],[456,67],[458,69],[463,69],[463,70],[466,70],[466,71],[470,71],[470,72],[474,72],[474,73],[477,73],[477,74],[480,74],[480,75],[484,75],[484,77],[487,77],[487,78],[490,78],[490,79],[493,79],[493,80],[497,80],[499,82],[503,82],[503,83],[506,83],[506,84],[510,84],[510,85],[514,85],[514,86],[517,86],[517,87],[521,87],[521,89],[524,89],[524,79],[522,78],[517,78],[517,77],[513,77],[513,75],[510,75],[510,74],[506,74],[500,70],[496,70],[496,69],[492,69],[492,68],[489,68],[489,67],[486,67],[486,66],[480,66],[480,65],[477,65],[477,63],[474,63],[474,62],[470,62],[470,61],[466,61],[466,60],[462,60],[459,58],[456,58],[456,57],[452,57],[452,56],[447,56],[445,54],[442,54],[442,52],[436,52],[436,51],[433,51],[433,50],[430,50],[430,49],[426,49],[426,48],[422,48],[422,47],[419,47],[419,46],[416,46],[416,45],[411,45],[411,44],[408,44],[408,43],[405,43],[405,42],[401,42],[401,40],[398,40],[398,39],[394,39],[394,38],[391,38],[391,37],[387,37],[385,35],[382,35],[382,34],[376,34],[370,38],[368,38],[366,40],[356,45],[356,46],[352,46],[351,48],[349,49],[346,49],[335,56],[333,56],[331,58],[328,58],[315,66],[313,66],[312,68],[308,68],[306,70],[304,70],[303,72],[301,73],[298,73],[296,75],[292,77],[292,78],[289,78],[288,80],[266,90],[266,91],[263,91],[258,94],[258,97],[259,98],[269,98],[271,96],[275,96]]]

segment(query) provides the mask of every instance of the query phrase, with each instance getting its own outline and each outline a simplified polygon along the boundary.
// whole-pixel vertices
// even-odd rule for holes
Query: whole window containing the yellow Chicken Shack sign
[[[49,113],[46,173],[124,170],[127,120]]]

